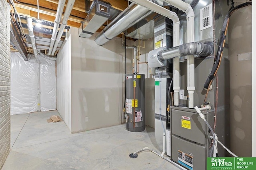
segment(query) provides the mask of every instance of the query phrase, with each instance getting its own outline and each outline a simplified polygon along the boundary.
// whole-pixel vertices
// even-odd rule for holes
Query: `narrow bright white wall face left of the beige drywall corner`
[[[57,55],[57,110],[71,131],[71,40],[64,41]]]

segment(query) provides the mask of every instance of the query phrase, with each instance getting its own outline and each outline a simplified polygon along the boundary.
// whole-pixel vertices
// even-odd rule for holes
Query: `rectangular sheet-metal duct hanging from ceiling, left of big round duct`
[[[110,18],[109,4],[94,0],[79,28],[79,37],[90,38]]]

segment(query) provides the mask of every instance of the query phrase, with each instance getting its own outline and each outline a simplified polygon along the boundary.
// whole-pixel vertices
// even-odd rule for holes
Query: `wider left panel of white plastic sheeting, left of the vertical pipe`
[[[37,111],[36,59],[24,61],[20,53],[11,53],[11,114]]]

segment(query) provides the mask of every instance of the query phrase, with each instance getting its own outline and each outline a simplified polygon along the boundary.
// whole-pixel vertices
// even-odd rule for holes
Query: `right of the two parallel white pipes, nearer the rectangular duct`
[[[63,31],[65,29],[65,26],[67,25],[67,22],[68,22],[68,18],[70,16],[70,13],[72,11],[72,8],[74,6],[74,3],[75,3],[76,0],[68,0],[68,4],[66,6],[66,10],[65,10],[65,13],[64,13],[64,16],[63,16],[63,19],[62,19],[62,22],[61,22],[61,25],[60,25],[60,30],[59,30],[59,33],[58,33],[58,36],[56,38],[56,41],[55,41],[55,44],[54,44],[54,47],[52,49],[52,55],[54,55],[56,49],[57,49],[57,46],[58,46],[58,43],[60,42],[60,38],[63,34]]]

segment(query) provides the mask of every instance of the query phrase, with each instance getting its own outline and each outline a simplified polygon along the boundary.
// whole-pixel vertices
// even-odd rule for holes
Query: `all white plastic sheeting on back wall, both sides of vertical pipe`
[[[24,61],[20,53],[11,53],[11,114],[37,111],[38,66],[31,57]],[[55,61],[40,58],[41,111],[56,109]]]

